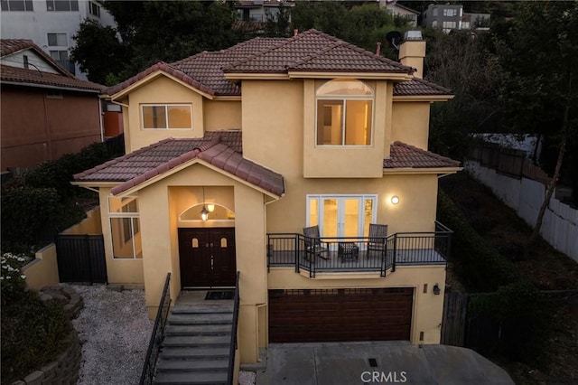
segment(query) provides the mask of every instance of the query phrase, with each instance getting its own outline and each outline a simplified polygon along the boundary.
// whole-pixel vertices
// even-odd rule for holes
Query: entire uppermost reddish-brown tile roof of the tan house
[[[159,62],[108,89],[108,94],[114,95],[157,70],[164,70],[214,96],[241,95],[239,85],[225,78],[225,72],[287,73],[291,70],[409,74],[413,71],[397,61],[362,50],[326,33],[310,30],[291,38],[256,37],[226,50],[200,52],[170,64]],[[399,84],[401,86],[394,89],[394,96],[451,94],[449,89],[425,80]]]

